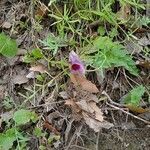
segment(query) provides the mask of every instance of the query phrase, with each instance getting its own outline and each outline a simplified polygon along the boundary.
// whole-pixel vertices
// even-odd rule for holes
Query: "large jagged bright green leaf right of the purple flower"
[[[89,54],[89,60],[92,59],[92,65],[95,68],[110,68],[122,66],[127,69],[131,74],[137,76],[138,69],[132,57],[128,55],[123,45],[118,42],[113,42],[109,37],[98,37],[93,41],[94,47],[97,52],[91,57]]]

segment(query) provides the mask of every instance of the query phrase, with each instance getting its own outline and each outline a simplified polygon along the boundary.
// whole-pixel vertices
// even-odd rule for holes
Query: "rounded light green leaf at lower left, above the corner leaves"
[[[24,125],[24,124],[28,123],[30,120],[32,120],[32,122],[35,122],[35,121],[37,121],[38,118],[37,118],[37,114],[35,112],[21,109],[14,113],[13,119],[17,125]]]

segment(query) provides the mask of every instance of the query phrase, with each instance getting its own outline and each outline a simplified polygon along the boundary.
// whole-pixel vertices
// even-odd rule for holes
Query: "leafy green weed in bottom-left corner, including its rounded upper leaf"
[[[23,149],[26,147],[26,142],[29,141],[29,137],[21,131],[21,125],[25,125],[30,122],[35,122],[38,120],[35,112],[19,109],[16,111],[12,118],[10,118],[10,126],[5,129],[4,133],[0,133],[0,149]],[[3,121],[3,120],[2,120]],[[8,120],[6,122],[8,124]],[[17,142],[16,146],[14,142]]]

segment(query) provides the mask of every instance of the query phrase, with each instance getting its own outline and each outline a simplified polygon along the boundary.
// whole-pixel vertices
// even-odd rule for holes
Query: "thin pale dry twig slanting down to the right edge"
[[[108,95],[105,91],[103,91],[102,94],[104,94],[104,95],[107,96],[107,98],[108,98],[108,100],[110,101],[110,103],[113,102],[113,100],[111,100],[111,98],[109,97],[109,95]],[[143,121],[143,122],[146,123],[146,124],[150,124],[149,121],[144,120],[144,119],[142,119],[142,118],[140,118],[140,117],[138,117],[138,116],[135,116],[135,115],[133,115],[132,113],[125,111],[123,108],[114,106],[114,105],[112,105],[112,104],[110,104],[110,103],[106,102],[106,104],[107,104],[108,106],[110,106],[110,107],[112,107],[112,108],[115,108],[115,109],[117,109],[117,110],[120,110],[120,111],[122,111],[123,113],[125,113],[125,114],[127,114],[127,115],[129,115],[129,116],[131,116],[131,117],[133,117],[133,118],[135,118],[135,119],[138,119],[138,120],[140,120],[140,121]],[[115,102],[113,102],[113,103],[115,103]]]

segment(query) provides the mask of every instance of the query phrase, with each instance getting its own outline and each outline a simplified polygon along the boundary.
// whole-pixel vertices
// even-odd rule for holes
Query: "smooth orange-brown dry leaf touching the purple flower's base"
[[[90,93],[98,93],[99,90],[96,87],[95,84],[93,84],[91,81],[87,80],[84,76],[78,75],[78,74],[71,74],[70,75],[71,82],[75,86],[81,86],[83,90],[86,90]]]

